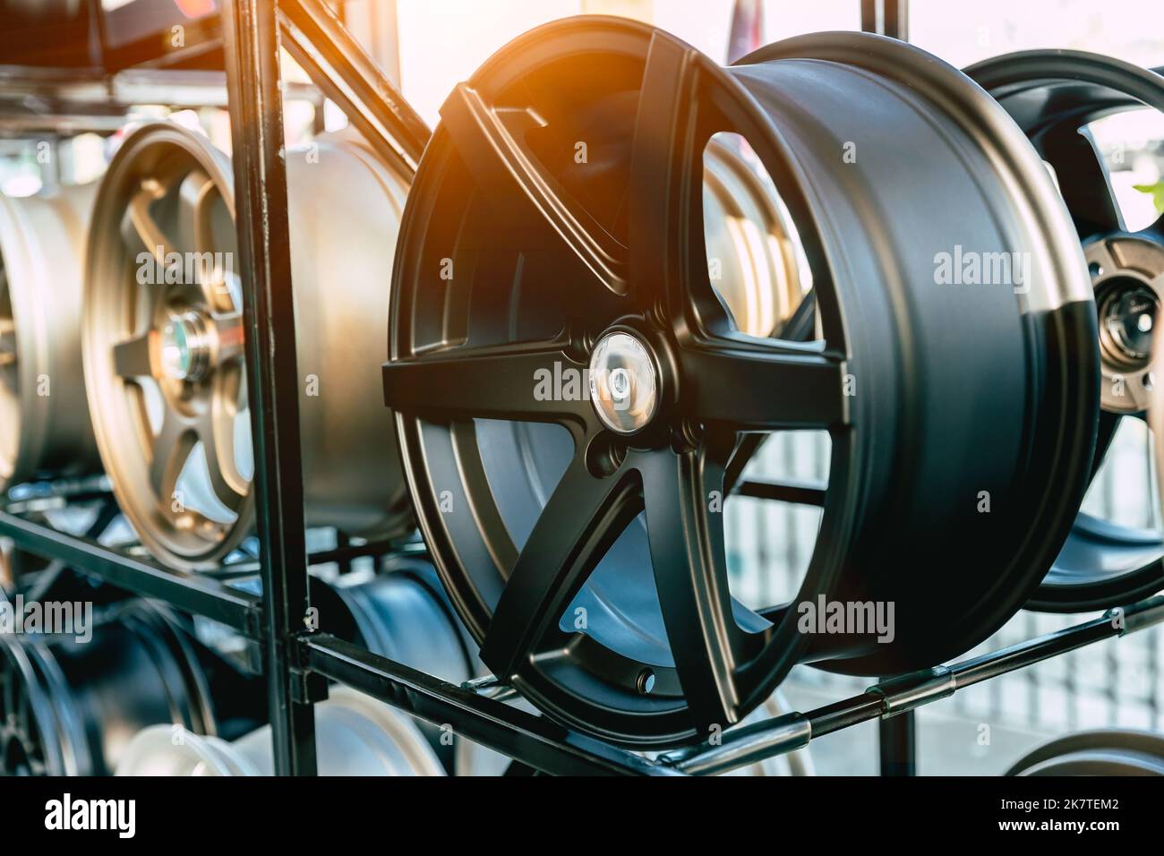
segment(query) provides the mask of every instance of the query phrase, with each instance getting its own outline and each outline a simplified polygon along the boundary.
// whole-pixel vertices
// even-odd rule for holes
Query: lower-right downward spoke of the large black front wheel
[[[726,455],[669,450],[637,457],[643,474],[651,561],[675,670],[695,726],[707,733],[741,716],[736,681],[736,625],[728,587],[723,514],[709,495],[723,490]]]

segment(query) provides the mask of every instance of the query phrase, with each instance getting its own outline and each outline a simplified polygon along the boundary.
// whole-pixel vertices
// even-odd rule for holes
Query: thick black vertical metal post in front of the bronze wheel
[[[308,606],[307,552],[278,26],[270,0],[223,6],[275,772],[312,776],[314,710],[297,698],[294,659]]]

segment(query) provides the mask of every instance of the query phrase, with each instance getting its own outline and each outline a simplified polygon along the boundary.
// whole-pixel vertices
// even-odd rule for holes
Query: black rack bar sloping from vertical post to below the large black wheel
[[[381,699],[467,740],[559,776],[674,776],[681,772],[579,735],[467,687],[378,657],[334,636],[305,636],[303,667]]]

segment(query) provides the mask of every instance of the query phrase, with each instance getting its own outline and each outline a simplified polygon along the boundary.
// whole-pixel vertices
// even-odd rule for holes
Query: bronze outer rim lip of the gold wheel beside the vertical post
[[[136,404],[126,389],[130,384],[118,377],[113,370],[114,337],[129,335],[120,330],[125,317],[120,312],[116,313],[119,323],[114,326],[119,330],[114,333],[107,331],[109,326],[107,320],[97,317],[102,310],[106,319],[112,313],[102,302],[107,284],[115,282],[118,292],[122,295],[127,286],[125,274],[118,270],[121,260],[130,257],[119,234],[120,222],[127,205],[127,189],[133,182],[140,181],[142,168],[139,158],[152,147],[171,147],[192,161],[197,168],[203,169],[219,188],[222,201],[232,220],[234,219],[234,185],[233,177],[226,168],[226,156],[207,140],[164,121],[140,125],[126,137],[101,181],[93,207],[93,226],[88,240],[90,264],[85,275],[85,320],[81,325],[85,389],[90,410],[98,415],[93,431],[101,459],[106,462],[106,469],[111,475],[114,496],[133,524],[135,533],[151,553],[166,563],[184,570],[199,570],[213,565],[218,558],[237,547],[248,535],[254,523],[254,491],[248,489],[240,498],[235,519],[221,529],[222,537],[208,540],[189,532],[180,532],[169,519],[159,525],[159,514],[155,503],[149,500],[143,501],[142,491],[115,477],[121,473],[135,473],[136,477],[133,481],[140,483],[144,480],[148,486],[148,464],[146,450],[140,446],[139,434],[134,431],[119,432],[109,425],[112,413],[118,415],[118,423],[122,426],[137,427],[139,419],[132,412],[137,409]],[[102,302],[102,310],[97,309],[99,302]],[[100,334],[97,332],[99,326],[102,327]],[[246,369],[242,370],[246,374]],[[165,406],[169,408],[169,404]],[[149,430],[148,425],[146,427]],[[152,497],[154,491],[150,488],[146,494]]]

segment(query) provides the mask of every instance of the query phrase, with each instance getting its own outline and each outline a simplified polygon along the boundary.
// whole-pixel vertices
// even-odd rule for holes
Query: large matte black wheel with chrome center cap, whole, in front
[[[750,334],[709,281],[717,132],[787,204],[816,339]],[[963,248],[1029,259],[1023,288],[939,284]],[[967,650],[1083,497],[1096,331],[1063,204],[996,104],[890,40],[722,69],[626,21],[534,30],[446,101],[397,261],[385,403],[441,578],[485,665],[603,738],[708,736],[805,659]],[[722,501],[751,434],[799,429],[831,436],[817,545],[793,603],[745,607]],[[892,642],[802,632],[818,599],[895,607]]]

